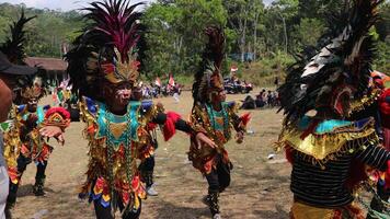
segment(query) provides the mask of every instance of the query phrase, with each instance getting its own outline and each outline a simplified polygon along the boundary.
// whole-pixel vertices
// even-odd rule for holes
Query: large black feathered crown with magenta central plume
[[[135,83],[139,62],[131,54],[139,38],[139,18],[135,9],[142,3],[129,5],[126,0],[92,2],[84,10],[87,26],[66,55],[70,83],[80,95],[99,99],[102,78],[111,83]]]

